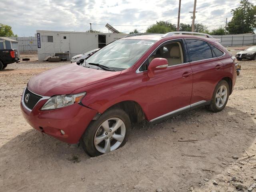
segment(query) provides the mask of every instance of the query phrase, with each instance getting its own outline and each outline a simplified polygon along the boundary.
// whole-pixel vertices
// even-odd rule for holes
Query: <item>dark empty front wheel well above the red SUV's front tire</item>
[[[132,100],[121,101],[108,107],[104,112],[113,108],[124,110],[128,114],[132,124],[139,123],[146,119],[145,113],[138,102]]]

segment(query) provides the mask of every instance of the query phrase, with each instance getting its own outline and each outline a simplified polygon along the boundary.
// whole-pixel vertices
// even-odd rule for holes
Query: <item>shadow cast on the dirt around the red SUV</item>
[[[14,191],[187,191],[222,172],[236,161],[232,156],[242,157],[255,133],[245,112],[228,106],[219,113],[199,108],[135,126],[122,148],[90,158],[81,146],[70,148],[32,129],[0,148],[0,184]]]

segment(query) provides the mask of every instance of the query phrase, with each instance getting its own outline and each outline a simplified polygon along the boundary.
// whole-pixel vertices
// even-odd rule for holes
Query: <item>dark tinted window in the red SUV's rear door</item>
[[[185,39],[190,62],[213,58],[210,46],[202,40]]]

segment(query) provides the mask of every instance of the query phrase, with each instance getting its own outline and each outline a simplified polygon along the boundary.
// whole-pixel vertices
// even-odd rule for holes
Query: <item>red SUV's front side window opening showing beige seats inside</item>
[[[169,43],[161,46],[156,50],[156,54],[153,54],[149,58],[149,63],[154,58],[165,58],[168,60],[168,66],[177,65],[183,63],[182,47],[179,42]]]

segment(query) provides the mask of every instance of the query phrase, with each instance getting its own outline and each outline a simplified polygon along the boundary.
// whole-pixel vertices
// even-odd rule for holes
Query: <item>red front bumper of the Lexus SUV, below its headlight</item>
[[[28,124],[36,130],[54,138],[76,144],[96,115],[97,111],[78,103],[55,110],[40,110],[47,100],[40,100],[32,111],[21,102],[22,114]],[[63,135],[60,130],[63,130]]]

